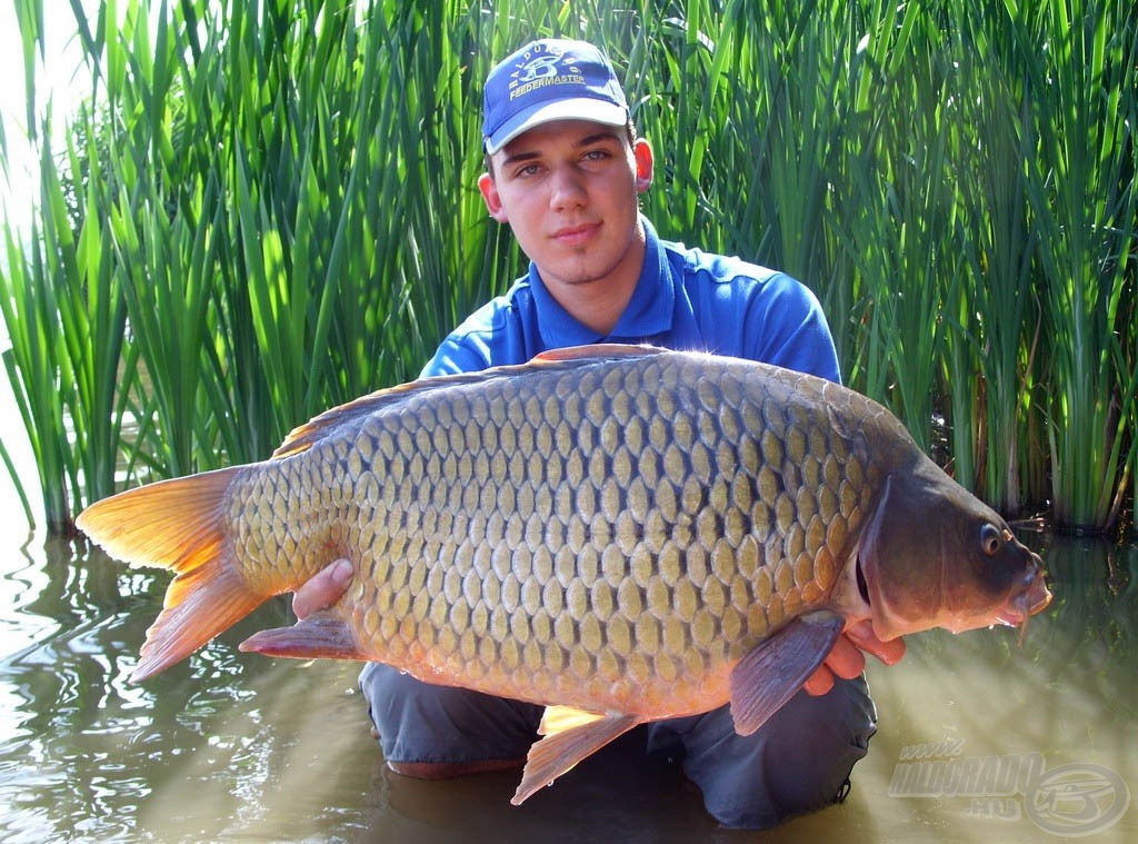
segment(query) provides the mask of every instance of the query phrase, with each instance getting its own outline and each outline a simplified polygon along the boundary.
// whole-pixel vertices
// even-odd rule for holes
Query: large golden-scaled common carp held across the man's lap
[[[77,523],[178,574],[135,679],[347,557],[335,607],[241,647],[589,713],[550,719],[516,803],[637,723],[729,700],[752,732],[847,625],[1025,624],[1050,600],[1039,557],[880,404],[630,346],[380,391]]]

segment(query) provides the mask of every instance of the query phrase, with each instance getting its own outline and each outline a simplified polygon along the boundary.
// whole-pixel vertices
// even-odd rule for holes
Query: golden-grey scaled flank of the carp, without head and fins
[[[229,521],[265,579],[314,573],[329,546],[353,557],[373,658],[531,700],[584,688],[613,710],[701,711],[743,653],[826,598],[872,497],[863,434],[827,435],[820,396],[791,400],[801,376],[747,375],[648,355],[412,393],[253,470]],[[330,464],[352,478],[335,508],[313,499]],[[300,538],[305,513],[322,518]]]

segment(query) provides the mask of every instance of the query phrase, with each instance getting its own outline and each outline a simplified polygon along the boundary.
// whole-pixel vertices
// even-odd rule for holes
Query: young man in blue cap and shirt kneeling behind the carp
[[[649,144],[635,136],[609,62],[584,42],[542,40],[486,82],[490,216],[513,230],[529,272],[473,313],[423,376],[522,363],[596,342],[651,343],[750,358],[839,380],[817,300],[783,273],[660,240],[637,198],[652,183]],[[352,566],[305,584],[304,616],[339,597]],[[765,828],[840,798],[865,755],[876,713],[860,649],[893,663],[900,640],[847,631],[826,664],[770,721],[739,736],[727,707],[648,724],[648,749],[682,761],[708,811]],[[361,675],[384,755],[396,771],[442,778],[520,765],[542,707],[429,686],[373,663]]]

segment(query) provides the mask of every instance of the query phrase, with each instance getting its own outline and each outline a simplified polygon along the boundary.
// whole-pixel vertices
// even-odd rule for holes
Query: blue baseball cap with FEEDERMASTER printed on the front
[[[483,137],[493,155],[522,132],[555,120],[609,126],[628,122],[628,103],[609,59],[585,41],[542,39],[486,77]]]

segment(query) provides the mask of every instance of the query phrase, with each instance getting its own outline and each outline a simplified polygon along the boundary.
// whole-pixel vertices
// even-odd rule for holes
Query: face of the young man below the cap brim
[[[652,181],[652,149],[624,128],[555,121],[514,138],[478,187],[509,223],[542,280],[559,288],[640,274],[644,235],[636,197]]]

